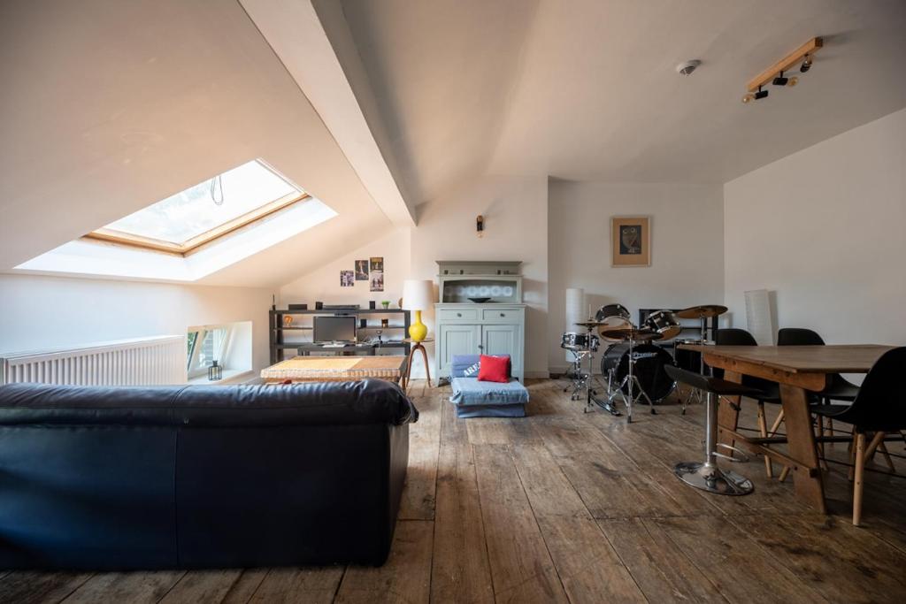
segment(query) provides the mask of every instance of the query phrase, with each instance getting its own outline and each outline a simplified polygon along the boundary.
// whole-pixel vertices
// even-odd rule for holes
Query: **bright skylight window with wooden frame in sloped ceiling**
[[[86,236],[187,254],[307,198],[273,168],[253,159]]]

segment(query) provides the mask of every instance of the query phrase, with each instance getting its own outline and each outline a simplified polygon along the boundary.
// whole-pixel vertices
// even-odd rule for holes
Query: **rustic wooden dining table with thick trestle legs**
[[[818,465],[808,392],[827,387],[830,374],[867,373],[892,346],[843,344],[828,346],[713,346],[681,344],[680,349],[704,355],[705,363],[724,369],[724,379],[742,382],[743,376],[770,379],[780,385],[786,436],[752,437],[739,431],[739,400],[721,398],[718,406],[718,442],[742,446],[789,467],[795,494],[827,513],[824,484]],[[730,404],[732,403],[732,404]],[[788,453],[776,445],[786,444]]]

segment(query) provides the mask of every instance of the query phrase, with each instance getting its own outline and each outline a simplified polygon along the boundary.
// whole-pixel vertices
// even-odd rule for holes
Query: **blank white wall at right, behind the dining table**
[[[726,301],[776,292],[778,327],[906,343],[906,110],[728,182]]]

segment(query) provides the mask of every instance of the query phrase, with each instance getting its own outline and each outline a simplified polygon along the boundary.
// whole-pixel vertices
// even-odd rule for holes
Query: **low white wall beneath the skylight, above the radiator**
[[[255,372],[269,363],[270,290],[0,274],[0,352],[184,334],[252,321]]]

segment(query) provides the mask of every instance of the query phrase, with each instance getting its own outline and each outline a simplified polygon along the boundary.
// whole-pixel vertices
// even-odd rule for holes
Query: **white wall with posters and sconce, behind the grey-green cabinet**
[[[307,273],[280,288],[281,303],[358,302],[390,300],[402,294],[405,279],[437,282],[438,260],[521,260],[525,325],[525,372],[547,375],[547,179],[545,177],[484,177],[459,187],[448,195],[418,207],[418,226],[398,229],[351,254]],[[476,236],[475,218],[485,216],[485,235]],[[353,288],[340,287],[340,270],[352,269],[353,261],[383,256],[383,293],[368,291],[365,282]],[[437,300],[437,298],[435,298]],[[429,336],[434,335],[433,309],[423,314]],[[434,344],[426,346],[434,368]],[[423,377],[421,361],[412,369]]]

